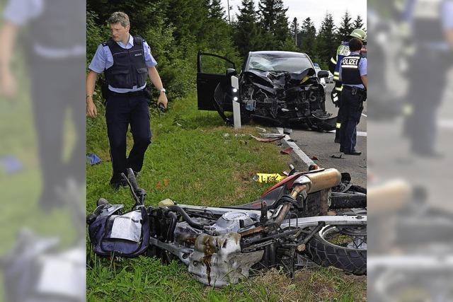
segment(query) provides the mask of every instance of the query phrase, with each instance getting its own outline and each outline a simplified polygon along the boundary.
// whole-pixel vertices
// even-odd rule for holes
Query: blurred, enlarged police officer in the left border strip
[[[23,65],[30,75],[40,162],[42,192],[38,204],[46,210],[62,207],[64,201],[57,188],[65,187],[69,180],[85,184],[86,119],[80,87],[84,86],[81,74],[86,62],[86,5],[74,0],[10,0],[3,19],[0,94],[13,98],[19,88],[24,88],[25,83],[17,82],[14,76],[17,64],[11,64],[14,54],[23,54]],[[64,156],[68,112],[75,144],[69,156]]]

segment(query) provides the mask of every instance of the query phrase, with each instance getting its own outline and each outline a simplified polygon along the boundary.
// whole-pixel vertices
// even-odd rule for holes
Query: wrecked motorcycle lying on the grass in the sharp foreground
[[[132,211],[122,214],[122,205],[100,199],[88,216],[99,255],[134,257],[141,250],[166,262],[180,260],[197,281],[217,287],[237,283],[252,269],[279,266],[292,276],[313,262],[367,272],[366,190],[336,169],[293,169],[256,202],[231,207],[171,199],[145,207],[146,192],[132,170],[127,180],[136,201]]]

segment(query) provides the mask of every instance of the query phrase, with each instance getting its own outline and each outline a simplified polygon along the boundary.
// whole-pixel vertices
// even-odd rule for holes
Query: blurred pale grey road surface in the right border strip
[[[379,180],[403,179],[423,187],[430,204],[453,211],[453,70],[447,76],[447,86],[437,110],[437,133],[433,133],[438,158],[415,156],[408,139],[403,137],[403,118],[389,121],[369,120],[369,173]],[[399,83],[399,81],[398,81]],[[423,123],[423,121],[420,121]]]

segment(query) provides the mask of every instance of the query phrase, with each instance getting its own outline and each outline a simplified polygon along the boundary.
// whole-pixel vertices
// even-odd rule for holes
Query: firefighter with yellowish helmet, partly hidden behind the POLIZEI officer
[[[352,30],[352,33],[349,35],[350,38],[357,37],[357,39],[361,40],[364,45],[367,43],[367,33],[365,30],[360,28],[356,28]],[[337,122],[336,122],[336,132],[335,132],[335,142],[340,143],[340,127],[343,117],[343,110],[341,107],[341,90],[343,88],[342,83],[340,81],[340,63],[341,60],[350,54],[349,50],[349,42],[343,41],[341,42],[340,46],[338,46],[336,54],[334,57],[331,57],[331,61],[329,62],[329,70],[333,74],[333,81],[335,81],[335,88],[333,88],[331,93],[332,102],[338,107],[338,115],[337,115]],[[366,54],[365,46],[362,47],[362,55]],[[366,56],[365,56],[366,57]]]

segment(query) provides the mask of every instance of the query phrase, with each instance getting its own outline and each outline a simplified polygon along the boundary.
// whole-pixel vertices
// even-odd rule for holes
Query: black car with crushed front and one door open
[[[326,93],[313,62],[300,52],[249,52],[238,76],[234,62],[217,54],[198,52],[197,101],[199,110],[217,110],[234,123],[234,103],[241,123],[251,120],[283,127],[335,129],[336,117],[326,112]]]

